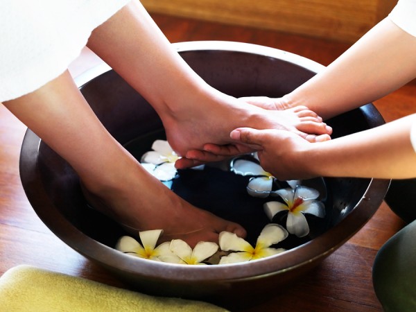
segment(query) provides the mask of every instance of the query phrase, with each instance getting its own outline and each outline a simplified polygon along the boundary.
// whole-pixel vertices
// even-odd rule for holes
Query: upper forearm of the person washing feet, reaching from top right
[[[375,101],[416,76],[416,38],[390,19],[358,40],[336,61],[284,96],[324,119]]]

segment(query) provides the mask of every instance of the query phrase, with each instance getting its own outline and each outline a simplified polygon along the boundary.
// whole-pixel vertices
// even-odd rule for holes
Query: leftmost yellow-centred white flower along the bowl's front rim
[[[143,259],[180,263],[181,259],[169,249],[169,242],[162,243],[156,247],[157,240],[162,235],[162,232],[162,229],[139,232],[143,245],[130,236],[122,236],[116,243],[116,250]]]

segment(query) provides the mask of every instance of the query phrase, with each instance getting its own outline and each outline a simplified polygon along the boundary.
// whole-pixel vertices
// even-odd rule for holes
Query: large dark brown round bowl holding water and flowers
[[[174,46],[207,83],[237,97],[282,96],[322,69],[298,55],[252,44],[186,42]],[[90,71],[78,80],[87,80],[81,92],[121,144],[163,130],[159,117],[140,94],[114,71],[96,70],[98,73]],[[384,121],[376,108],[367,104],[328,123],[333,127],[333,136],[340,137]],[[244,302],[245,297],[253,302],[253,297],[282,291],[302,277],[370,219],[389,185],[388,180],[324,178],[332,196],[332,218],[331,227],[323,234],[284,254],[258,261],[181,266],[138,259],[114,250],[123,230],[85,207],[78,176],[71,166],[30,130],[21,148],[20,174],[33,209],[52,232],[80,254],[141,292],[225,306],[227,302]]]

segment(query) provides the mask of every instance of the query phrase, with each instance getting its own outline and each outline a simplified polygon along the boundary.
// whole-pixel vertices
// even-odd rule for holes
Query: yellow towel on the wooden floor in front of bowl
[[[80,277],[16,266],[0,278],[0,311],[226,311],[178,298],[153,297]]]

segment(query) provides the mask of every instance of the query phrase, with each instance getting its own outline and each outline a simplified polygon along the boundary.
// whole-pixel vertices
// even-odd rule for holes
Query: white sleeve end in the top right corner
[[[416,37],[416,0],[399,0],[388,17],[406,33]]]

